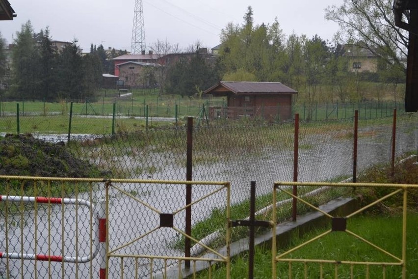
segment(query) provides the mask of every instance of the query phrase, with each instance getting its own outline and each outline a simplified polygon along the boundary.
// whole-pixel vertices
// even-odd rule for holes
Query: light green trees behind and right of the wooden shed
[[[349,64],[353,59],[345,44],[325,41],[318,35],[287,36],[277,18],[272,24],[254,25],[250,6],[243,24],[230,23],[222,30],[219,64],[225,81],[282,82],[302,93],[298,98],[306,103],[318,98],[358,102],[364,99],[368,82],[396,86],[405,81],[401,58],[406,56],[393,46],[370,45],[369,40],[361,36],[340,39],[356,49],[371,50],[375,56],[377,71],[360,73]]]

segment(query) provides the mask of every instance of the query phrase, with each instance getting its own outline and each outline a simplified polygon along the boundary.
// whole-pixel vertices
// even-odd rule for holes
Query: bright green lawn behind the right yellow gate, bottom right
[[[409,214],[407,219],[407,278],[418,278],[418,214]],[[397,257],[402,256],[402,218],[401,216],[360,216],[348,220],[347,228],[356,234],[366,238],[379,247],[391,252]],[[295,235],[291,244],[278,254],[296,247],[323,232],[322,229],[313,230],[302,238]],[[254,278],[271,278],[271,250],[259,248],[255,255]],[[299,259],[329,259],[370,262],[393,262],[386,254],[377,251],[360,240],[347,235],[344,232],[332,232],[331,234],[314,241],[311,244],[294,251],[286,258]],[[278,263],[278,278],[289,278],[287,263]],[[292,278],[304,278],[305,266],[303,263],[292,263]],[[307,265],[308,278],[319,278],[319,265]],[[226,269],[220,267],[212,270],[212,278],[225,278]],[[382,266],[369,267],[369,278],[382,278]],[[232,265],[231,278],[247,278],[248,256],[239,256]],[[323,265],[323,278],[334,278],[335,265]],[[400,267],[386,267],[386,278],[400,278]],[[208,271],[203,272],[198,278],[208,278]],[[350,278],[350,266],[338,265],[338,278]],[[366,278],[366,266],[354,267],[354,278]]]

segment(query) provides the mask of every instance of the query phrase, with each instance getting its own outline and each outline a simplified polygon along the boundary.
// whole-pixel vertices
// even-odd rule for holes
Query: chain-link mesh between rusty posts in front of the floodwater
[[[417,152],[417,117],[417,113],[397,117],[395,149],[397,156]],[[250,181],[256,181],[258,196],[256,211],[259,211],[257,218],[269,220],[269,211],[262,211],[262,209],[271,206],[273,182],[290,181],[293,178],[294,124],[287,122],[271,125],[261,121],[256,124],[245,121],[238,122],[240,124],[222,125],[223,123],[219,120],[209,126],[193,128],[192,180],[230,181],[232,185],[231,219],[233,220],[244,219],[248,216]],[[299,181],[341,181],[351,176],[354,138],[352,119],[302,121],[299,128]],[[389,162],[391,142],[392,116],[361,119],[357,165],[359,172],[372,165]],[[35,139],[30,135],[9,136],[0,140],[0,149],[0,173],[3,175],[185,180],[187,127],[179,125],[172,128],[148,130],[138,127],[138,130],[132,133],[72,136],[68,141],[54,135],[49,135],[48,138],[41,136],[41,139]],[[78,197],[91,200],[92,204],[96,204],[100,198],[103,198],[103,186],[100,183],[79,184],[66,187],[64,190],[61,188],[56,190],[56,187],[46,184],[42,187],[38,185],[36,191],[31,183],[13,182],[13,187],[7,190],[6,185],[9,184],[1,184],[1,195]],[[131,196],[146,197],[156,208],[158,206],[174,207],[175,201],[182,200],[183,202],[184,197],[184,189],[174,191],[164,187],[154,188],[152,185],[138,188],[133,184],[125,184],[122,188]],[[13,192],[11,189],[16,190]],[[306,194],[313,190],[316,188],[300,188],[299,194]],[[130,240],[131,234],[138,230],[138,223],[152,226],[153,221],[156,221],[152,217],[145,217],[148,214],[147,210],[140,204],[133,207],[135,200],[121,193],[115,191],[110,194],[110,212],[113,220],[109,221],[111,224],[109,237],[115,246]],[[193,200],[204,193],[201,188],[193,187]],[[157,198],[157,194],[165,198]],[[322,203],[339,195],[341,192],[322,192],[312,202]],[[0,252],[6,249],[6,239],[9,251],[12,248],[13,251],[20,252],[22,247],[25,249],[31,247],[34,250],[31,240],[35,237],[35,233],[39,239],[44,239],[38,241],[37,252],[47,253],[46,249],[51,247],[59,255],[66,255],[67,251],[71,254],[74,251],[72,249],[76,248],[70,248],[69,245],[67,247],[67,243],[73,243],[76,235],[81,237],[78,250],[83,253],[91,251],[88,232],[92,230],[95,222],[89,220],[88,210],[84,207],[79,206],[74,213],[72,206],[75,205],[65,206],[65,229],[62,233],[59,226],[62,212],[59,206],[47,205],[42,210],[40,209],[42,206],[35,209],[30,204],[24,204],[24,208],[21,209],[20,204],[12,202],[7,204],[2,202],[0,206],[2,206]],[[9,209],[5,210],[7,207]],[[192,237],[198,240],[205,239],[205,243],[211,246],[225,243],[225,236],[222,233],[225,228],[225,208],[225,200],[217,196],[208,197],[205,201],[193,206]],[[283,214],[279,219],[288,219],[291,205],[283,206],[281,210]],[[298,207],[298,210],[301,213],[305,209]],[[180,222],[177,218],[183,217],[181,214],[178,215],[175,223]],[[79,225],[83,231],[79,229],[77,234],[75,227],[67,223],[75,219],[78,219],[77,222],[80,224],[81,220],[87,220],[85,224]],[[35,221],[38,225],[37,232],[30,230],[30,225]],[[25,223],[23,229],[20,225],[22,222]],[[44,232],[44,228],[49,225],[49,222],[52,224],[50,234],[54,234],[54,239],[68,238],[65,240],[64,252],[62,252],[60,242],[55,242],[55,244],[54,241],[51,244],[48,242],[50,235]],[[22,234],[21,231],[24,233]],[[246,228],[235,228],[232,237],[238,239],[246,236],[247,233]],[[167,232],[152,238],[158,244],[153,240],[147,245],[136,246],[132,248],[133,250],[128,247],[125,249],[132,253],[157,251],[159,254],[183,254],[183,248],[179,249],[183,243],[181,236]],[[202,252],[204,250],[192,248],[192,255]],[[75,264],[78,265],[77,268]],[[120,261],[113,259],[110,264],[113,270],[121,272]],[[134,265],[133,262],[131,264]],[[131,264],[128,265],[132,266]],[[149,262],[144,264],[149,264]],[[43,278],[50,272],[49,265],[52,266],[52,273],[57,277],[63,277],[64,272],[65,276],[69,275],[68,278],[90,278],[90,270],[95,270],[91,264],[64,263],[61,265],[59,262],[41,263],[38,261],[34,266],[31,261],[1,258],[0,275],[6,278]],[[160,268],[161,265],[156,264],[155,267]],[[120,278],[120,276],[121,274],[116,274],[114,278]],[[147,275],[144,277],[147,278]]]

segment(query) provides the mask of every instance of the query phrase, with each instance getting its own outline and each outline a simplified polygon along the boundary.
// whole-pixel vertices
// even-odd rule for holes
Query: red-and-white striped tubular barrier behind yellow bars
[[[60,198],[60,197],[43,197],[43,196],[18,196],[18,195],[0,195],[0,201],[11,201],[11,202],[25,202],[25,203],[51,203],[51,204],[76,204],[87,206],[94,212],[95,207],[89,201],[77,198]],[[99,235],[99,222],[94,225],[95,236]],[[57,261],[57,262],[71,262],[71,263],[86,263],[93,260],[99,253],[99,238],[94,238],[94,252],[91,256],[86,257],[74,257],[74,256],[57,256],[57,255],[45,255],[45,254],[28,254],[28,253],[8,253],[0,251],[0,258],[9,259],[24,259],[24,260],[39,260],[39,261]]]

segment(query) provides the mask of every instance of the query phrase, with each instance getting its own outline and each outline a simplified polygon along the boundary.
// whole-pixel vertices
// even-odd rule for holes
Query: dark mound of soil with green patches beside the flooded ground
[[[75,158],[64,142],[52,143],[23,134],[6,135],[0,140],[0,175],[97,177],[99,171]]]

